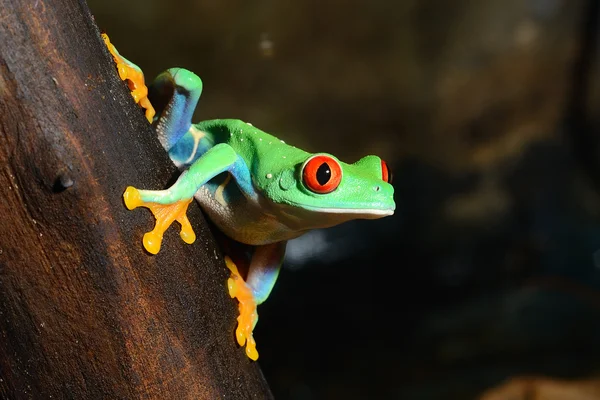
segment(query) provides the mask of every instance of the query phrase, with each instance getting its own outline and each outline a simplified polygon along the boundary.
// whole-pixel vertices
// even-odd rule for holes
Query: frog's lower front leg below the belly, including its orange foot
[[[278,242],[257,246],[250,260],[248,277],[244,282],[235,264],[229,257],[225,257],[225,264],[231,271],[231,278],[227,281],[229,295],[237,298],[240,315],[235,337],[240,346],[246,344],[246,355],[258,359],[256,342],[252,330],[258,322],[256,306],[264,302],[269,294],[281,269],[285,245],[287,242]]]

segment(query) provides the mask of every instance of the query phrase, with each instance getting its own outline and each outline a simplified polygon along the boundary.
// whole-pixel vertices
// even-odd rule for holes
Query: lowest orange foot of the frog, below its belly
[[[246,355],[251,360],[256,361],[258,359],[258,351],[256,351],[256,342],[252,336],[252,330],[258,322],[256,300],[254,300],[252,290],[240,276],[231,258],[225,256],[225,265],[231,271],[231,277],[227,280],[229,295],[231,298],[237,298],[239,302],[238,309],[240,316],[238,317],[235,337],[240,346],[246,345]]]

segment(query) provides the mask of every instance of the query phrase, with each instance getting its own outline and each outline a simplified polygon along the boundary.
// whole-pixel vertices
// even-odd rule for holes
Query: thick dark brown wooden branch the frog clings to
[[[271,398],[199,208],[123,205],[175,173],[84,1],[0,0],[0,397]]]

